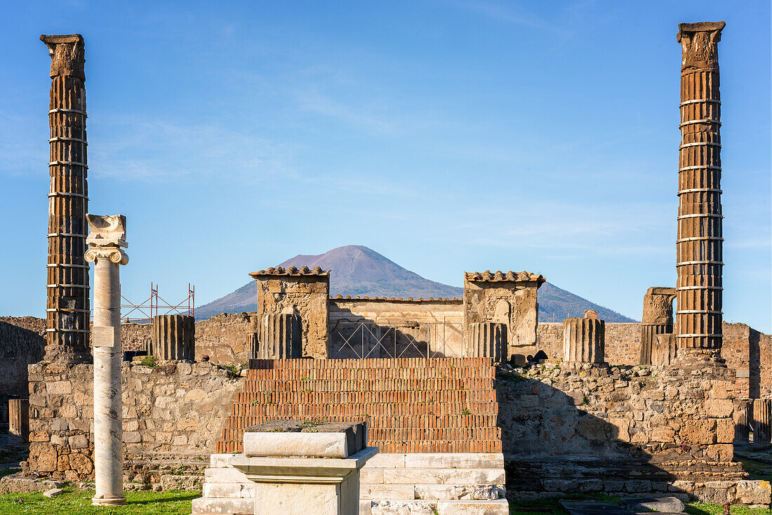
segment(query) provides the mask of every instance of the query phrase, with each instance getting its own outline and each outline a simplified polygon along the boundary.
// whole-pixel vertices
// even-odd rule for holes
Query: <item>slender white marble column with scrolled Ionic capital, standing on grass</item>
[[[87,215],[90,249],[86,261],[94,263],[94,473],[95,506],[126,503],[124,497],[123,408],[120,365],[120,273],[129,262],[124,215]]]

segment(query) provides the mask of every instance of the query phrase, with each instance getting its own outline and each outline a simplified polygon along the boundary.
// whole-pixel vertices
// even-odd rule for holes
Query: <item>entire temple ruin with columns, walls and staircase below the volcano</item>
[[[641,324],[592,310],[540,322],[539,273],[465,272],[462,298],[352,298],[330,296],[320,267],[276,266],[249,274],[256,312],[120,325],[125,219],[89,215],[85,233],[83,38],[42,36],[53,80],[47,321],[36,332],[0,320],[0,337],[46,346],[25,368],[29,399],[11,404],[15,435],[29,439],[22,476],[96,476],[95,503],[121,503],[124,488],[202,488],[195,515],[259,513],[272,490],[307,513],[312,487],[297,485],[330,483],[348,485],[326,498],[330,513],[363,515],[503,515],[508,499],[572,493],[770,503],[769,483],[735,457],[770,442],[772,337],[721,314],[723,26],[679,25],[677,282],[648,289]],[[120,361],[121,350],[153,359]],[[276,424],[302,434],[276,437]],[[336,434],[307,438],[307,427]],[[286,449],[266,444],[276,438]],[[317,446],[330,439],[334,456]],[[291,456],[292,473],[277,474]]]

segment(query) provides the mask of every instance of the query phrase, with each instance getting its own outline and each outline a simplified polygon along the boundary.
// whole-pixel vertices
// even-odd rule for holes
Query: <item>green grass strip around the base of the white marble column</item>
[[[93,491],[66,489],[53,499],[39,492],[8,493],[0,495],[0,515],[190,515],[191,500],[200,496],[195,491],[127,492],[126,506],[96,507],[91,506]]]

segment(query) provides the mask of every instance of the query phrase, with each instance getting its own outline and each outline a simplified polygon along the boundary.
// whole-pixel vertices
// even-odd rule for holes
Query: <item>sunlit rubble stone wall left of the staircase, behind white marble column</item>
[[[215,452],[240,378],[210,363],[124,363],[126,480],[160,483],[163,469],[200,468]],[[93,365],[29,366],[25,473],[93,478]],[[153,477],[151,477],[153,476]]]

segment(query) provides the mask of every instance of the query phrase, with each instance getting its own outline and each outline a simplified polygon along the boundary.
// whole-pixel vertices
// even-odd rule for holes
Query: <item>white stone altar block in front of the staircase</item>
[[[279,420],[245,429],[230,464],[256,483],[256,515],[357,515],[359,471],[377,453],[364,423]]]

